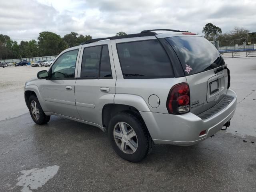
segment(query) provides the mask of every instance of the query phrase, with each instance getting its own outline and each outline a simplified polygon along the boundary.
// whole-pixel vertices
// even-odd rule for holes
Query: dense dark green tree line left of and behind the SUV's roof
[[[116,36],[125,34],[118,32]],[[71,32],[61,38],[53,32],[44,31],[39,34],[38,41],[21,41],[18,44],[9,36],[0,34],[0,60],[58,55],[63,50],[78,46],[91,38],[90,35],[84,36],[76,32]]]

